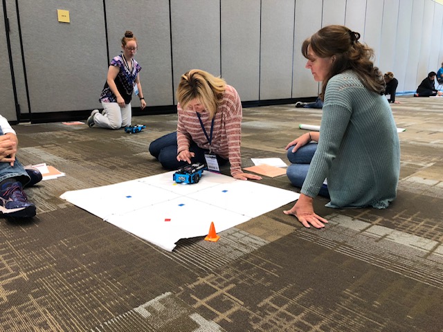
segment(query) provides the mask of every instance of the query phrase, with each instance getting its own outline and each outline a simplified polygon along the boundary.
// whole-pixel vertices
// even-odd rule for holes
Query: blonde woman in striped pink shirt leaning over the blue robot
[[[165,169],[206,163],[217,171],[219,165],[230,163],[234,178],[261,179],[242,171],[242,102],[233,86],[192,69],[181,75],[177,101],[177,131],[154,140],[149,148]]]

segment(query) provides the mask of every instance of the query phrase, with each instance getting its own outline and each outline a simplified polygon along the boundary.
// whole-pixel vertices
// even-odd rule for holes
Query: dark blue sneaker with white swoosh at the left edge
[[[4,183],[0,188],[0,211],[5,216],[30,218],[35,216],[35,205],[28,202],[21,183]]]

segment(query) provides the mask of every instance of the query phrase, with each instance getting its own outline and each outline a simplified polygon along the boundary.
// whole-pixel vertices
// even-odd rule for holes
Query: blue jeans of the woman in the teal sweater
[[[302,187],[305,182],[307,172],[309,171],[309,165],[311,164],[312,157],[317,149],[317,143],[309,143],[300,147],[295,153],[292,152],[293,146],[289,147],[287,156],[291,165],[287,168],[286,175],[291,181],[294,187]],[[327,185],[323,184],[318,192],[320,196],[329,197]]]

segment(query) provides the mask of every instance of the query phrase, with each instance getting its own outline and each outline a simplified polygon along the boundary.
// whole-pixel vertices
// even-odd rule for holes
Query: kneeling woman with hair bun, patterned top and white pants
[[[100,95],[103,111],[94,109],[87,123],[89,127],[120,129],[128,127],[132,120],[132,92],[140,98],[141,109],[146,106],[141,89],[141,66],[134,59],[137,52],[137,39],[131,31],[126,31],[122,38],[123,53],[114,57],[108,68],[105,87]]]

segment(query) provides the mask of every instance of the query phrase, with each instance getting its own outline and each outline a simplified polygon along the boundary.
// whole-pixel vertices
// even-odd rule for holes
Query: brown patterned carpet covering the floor
[[[19,159],[66,176],[26,190],[31,221],[0,223],[0,331],[443,331],[443,100],[399,97],[401,181],[387,210],[325,208],[323,230],[271,211],[210,243],[166,252],[60,199],[165,172],[147,152],[176,115],[141,133],[19,124]],[[242,159],[280,157],[321,110],[244,109]],[[288,190],[286,176],[261,183]],[[115,202],[119,204],[118,201]]]

